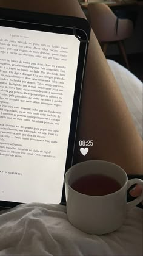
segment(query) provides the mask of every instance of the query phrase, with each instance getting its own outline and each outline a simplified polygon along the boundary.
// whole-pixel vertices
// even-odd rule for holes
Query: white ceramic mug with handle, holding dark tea
[[[71,188],[73,182],[89,174],[110,176],[122,187],[115,193],[105,196],[88,196]],[[141,196],[127,203],[127,190],[133,184],[143,185],[143,181],[128,180],[125,171],[110,162],[91,160],[71,166],[65,174],[68,220],[73,226],[90,234],[102,235],[119,229],[125,220],[127,210],[131,210],[143,200],[142,192]]]

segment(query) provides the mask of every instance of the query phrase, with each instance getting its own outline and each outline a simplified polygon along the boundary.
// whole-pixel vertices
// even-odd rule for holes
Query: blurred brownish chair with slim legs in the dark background
[[[117,43],[129,69],[124,40],[133,33],[133,22],[129,19],[119,19],[108,5],[99,3],[88,4],[88,17],[104,54],[106,55],[108,43]]]

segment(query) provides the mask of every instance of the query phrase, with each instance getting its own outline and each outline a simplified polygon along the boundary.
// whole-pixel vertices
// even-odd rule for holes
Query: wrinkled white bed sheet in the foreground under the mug
[[[142,217],[135,207],[119,230],[97,236],[73,227],[62,205],[19,205],[0,212],[0,255],[142,256]]]

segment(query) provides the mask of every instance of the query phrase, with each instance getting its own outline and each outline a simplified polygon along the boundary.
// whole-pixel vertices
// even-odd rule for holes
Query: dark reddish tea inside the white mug
[[[121,187],[117,180],[102,174],[80,177],[71,185],[73,190],[88,196],[104,196],[118,191]]]

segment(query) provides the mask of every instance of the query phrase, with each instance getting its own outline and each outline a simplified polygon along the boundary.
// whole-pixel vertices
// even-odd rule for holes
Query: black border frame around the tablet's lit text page
[[[87,59],[87,49],[90,38],[90,25],[88,24],[88,21],[83,18],[0,8],[0,26],[75,35],[75,37],[80,41],[75,93],[73,98],[67,158],[65,163],[66,172],[73,163],[81,88],[84,79],[85,62]],[[65,204],[64,181],[61,202]],[[5,208],[15,207],[19,204],[22,204],[22,202],[0,201],[0,207]]]

